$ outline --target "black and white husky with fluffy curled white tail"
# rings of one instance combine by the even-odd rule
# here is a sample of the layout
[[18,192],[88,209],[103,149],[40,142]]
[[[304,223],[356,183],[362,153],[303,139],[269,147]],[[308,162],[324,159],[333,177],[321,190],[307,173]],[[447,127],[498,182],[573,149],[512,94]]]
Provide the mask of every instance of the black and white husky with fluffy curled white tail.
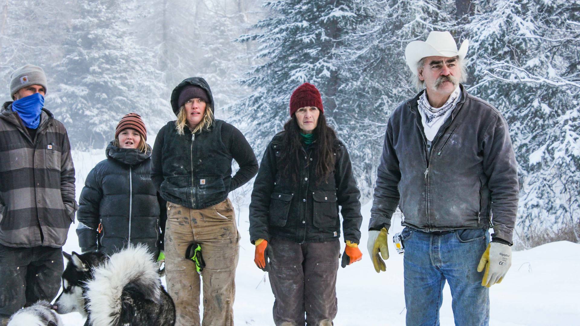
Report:
[[71,255],[55,301],[57,313],[78,311],[85,325],[173,326],[175,305],[144,246],[129,246],[108,257],[99,252]]

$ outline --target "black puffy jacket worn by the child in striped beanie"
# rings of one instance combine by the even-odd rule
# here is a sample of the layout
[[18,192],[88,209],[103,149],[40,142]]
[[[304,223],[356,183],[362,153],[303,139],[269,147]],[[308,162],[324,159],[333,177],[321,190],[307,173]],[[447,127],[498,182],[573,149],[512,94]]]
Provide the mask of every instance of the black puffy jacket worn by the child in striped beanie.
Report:
[[107,159],[89,172],[81,192],[79,245],[82,251],[111,254],[129,242],[142,243],[156,254],[166,211],[151,181],[151,147],[143,153],[111,142],[106,154]]

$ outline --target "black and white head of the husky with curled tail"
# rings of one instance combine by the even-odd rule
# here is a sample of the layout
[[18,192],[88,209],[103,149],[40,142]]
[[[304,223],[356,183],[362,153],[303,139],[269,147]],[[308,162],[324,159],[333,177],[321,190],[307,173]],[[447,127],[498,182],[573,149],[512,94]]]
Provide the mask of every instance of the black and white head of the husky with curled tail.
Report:
[[56,312],[66,314],[78,311],[86,317],[84,285],[92,278],[93,267],[102,263],[106,255],[97,251],[85,252],[81,255],[73,251],[69,255],[63,251],[63,256],[67,259],[67,267],[61,277],[63,292],[55,301]]

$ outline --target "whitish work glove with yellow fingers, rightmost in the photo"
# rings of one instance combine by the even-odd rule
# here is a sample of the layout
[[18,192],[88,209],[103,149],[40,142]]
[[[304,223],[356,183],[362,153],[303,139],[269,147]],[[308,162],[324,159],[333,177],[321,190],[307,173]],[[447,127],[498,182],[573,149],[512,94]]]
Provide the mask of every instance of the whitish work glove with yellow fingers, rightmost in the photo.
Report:
[[477,265],[478,272],[481,272],[485,267],[481,286],[491,287],[491,285],[500,283],[511,266],[512,247],[500,242],[490,242],[481,255],[479,265]]

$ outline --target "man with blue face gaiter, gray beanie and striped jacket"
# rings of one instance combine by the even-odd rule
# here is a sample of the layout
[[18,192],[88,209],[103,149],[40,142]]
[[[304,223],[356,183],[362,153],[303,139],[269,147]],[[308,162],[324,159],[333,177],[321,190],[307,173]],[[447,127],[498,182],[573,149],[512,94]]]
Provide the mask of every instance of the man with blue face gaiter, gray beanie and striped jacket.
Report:
[[27,64],[0,108],[0,325],[60,288],[62,247],[77,210],[67,131],[44,108],[46,76]]

